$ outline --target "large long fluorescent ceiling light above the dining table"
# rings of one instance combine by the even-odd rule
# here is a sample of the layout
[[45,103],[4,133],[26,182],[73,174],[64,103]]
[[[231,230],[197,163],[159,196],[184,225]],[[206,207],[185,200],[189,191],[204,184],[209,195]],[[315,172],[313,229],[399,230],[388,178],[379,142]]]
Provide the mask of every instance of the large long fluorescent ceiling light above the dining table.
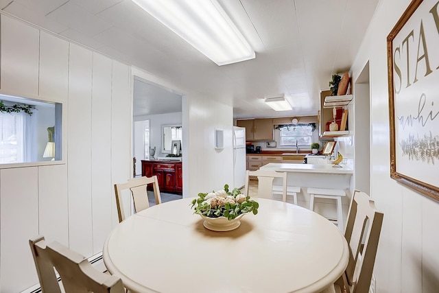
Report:
[[217,0],[132,1],[217,65],[255,57]]

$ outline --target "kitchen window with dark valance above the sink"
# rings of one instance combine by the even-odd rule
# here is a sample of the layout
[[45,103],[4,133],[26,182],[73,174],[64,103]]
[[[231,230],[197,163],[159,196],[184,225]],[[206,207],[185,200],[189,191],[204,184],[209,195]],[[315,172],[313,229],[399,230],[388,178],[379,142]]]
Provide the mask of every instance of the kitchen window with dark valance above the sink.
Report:
[[297,126],[279,126],[279,146],[311,148],[313,126],[311,124],[298,124]]

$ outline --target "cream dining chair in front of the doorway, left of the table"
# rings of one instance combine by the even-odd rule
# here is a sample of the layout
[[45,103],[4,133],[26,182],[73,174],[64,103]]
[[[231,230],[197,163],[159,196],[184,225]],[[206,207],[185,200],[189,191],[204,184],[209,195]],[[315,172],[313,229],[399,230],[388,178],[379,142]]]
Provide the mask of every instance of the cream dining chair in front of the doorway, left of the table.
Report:
[[119,222],[125,220],[125,212],[122,204],[122,191],[125,189],[130,189],[132,194],[132,199],[134,202],[134,211],[139,213],[150,207],[150,202],[147,196],[147,185],[152,184],[152,189],[154,190],[154,196],[156,198],[156,204],[161,204],[162,199],[160,196],[160,189],[158,188],[157,176],[151,177],[138,177],[128,180],[126,183],[115,184],[115,194],[116,194],[116,204],[117,204],[117,214],[119,215]]

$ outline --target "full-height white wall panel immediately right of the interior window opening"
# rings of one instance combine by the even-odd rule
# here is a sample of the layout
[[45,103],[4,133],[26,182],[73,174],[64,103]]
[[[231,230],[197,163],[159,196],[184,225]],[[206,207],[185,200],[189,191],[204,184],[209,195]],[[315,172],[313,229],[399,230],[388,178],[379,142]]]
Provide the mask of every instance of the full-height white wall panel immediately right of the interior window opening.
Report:
[[69,58],[69,235],[70,248],[93,255],[91,207],[91,84],[93,53],[70,45]]

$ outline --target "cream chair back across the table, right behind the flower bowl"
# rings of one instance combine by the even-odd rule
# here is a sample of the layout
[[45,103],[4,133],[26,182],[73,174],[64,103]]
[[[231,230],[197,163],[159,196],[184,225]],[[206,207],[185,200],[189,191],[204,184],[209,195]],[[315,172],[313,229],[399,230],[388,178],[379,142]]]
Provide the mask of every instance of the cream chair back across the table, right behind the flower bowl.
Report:
[[246,187],[245,195],[248,196],[248,188],[250,185],[250,176],[257,176],[258,178],[258,197],[259,198],[273,198],[273,180],[274,178],[281,178],[282,181],[282,200],[287,201],[287,172],[276,172],[271,170],[256,170],[246,172]]

